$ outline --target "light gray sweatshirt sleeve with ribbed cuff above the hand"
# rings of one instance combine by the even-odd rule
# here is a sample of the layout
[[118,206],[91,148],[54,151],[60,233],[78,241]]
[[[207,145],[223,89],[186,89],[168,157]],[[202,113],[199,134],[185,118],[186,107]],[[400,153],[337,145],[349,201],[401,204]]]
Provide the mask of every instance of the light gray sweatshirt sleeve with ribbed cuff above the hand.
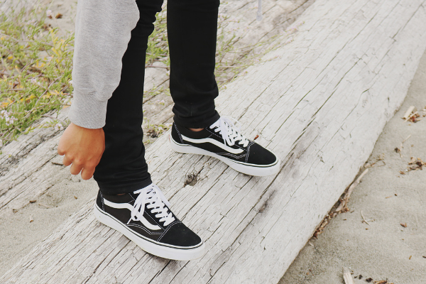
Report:
[[121,59],[139,19],[135,0],[78,0],[70,121],[105,125],[107,102],[121,77]]

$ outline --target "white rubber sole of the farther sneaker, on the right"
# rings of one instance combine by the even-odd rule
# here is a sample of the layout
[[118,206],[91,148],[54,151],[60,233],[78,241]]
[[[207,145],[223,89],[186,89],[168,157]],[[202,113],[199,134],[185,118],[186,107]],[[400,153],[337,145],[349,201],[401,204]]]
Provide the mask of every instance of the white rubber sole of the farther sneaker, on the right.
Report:
[[246,175],[256,175],[256,176],[266,176],[266,175],[275,175],[280,171],[280,159],[277,158],[277,161],[271,165],[253,165],[249,163],[235,162],[234,160],[229,160],[222,155],[217,155],[206,151],[202,148],[197,148],[188,144],[180,144],[176,142],[171,135],[169,135],[170,147],[173,151],[185,154],[199,154],[199,155],[209,155],[210,157],[217,158],[222,160],[222,162],[229,165],[237,172],[244,173]]

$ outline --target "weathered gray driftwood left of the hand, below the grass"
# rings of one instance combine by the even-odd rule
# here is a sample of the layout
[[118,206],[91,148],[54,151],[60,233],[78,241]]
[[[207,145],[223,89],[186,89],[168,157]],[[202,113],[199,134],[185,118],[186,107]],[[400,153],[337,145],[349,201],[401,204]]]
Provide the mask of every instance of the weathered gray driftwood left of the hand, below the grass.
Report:
[[[59,119],[65,119],[65,114],[66,111]],[[49,120],[44,119],[40,124]],[[61,163],[56,153],[61,132],[53,127],[36,128],[30,135],[23,135],[1,149],[1,216],[12,209],[21,209],[52,185],[70,177],[63,165],[53,164]]]

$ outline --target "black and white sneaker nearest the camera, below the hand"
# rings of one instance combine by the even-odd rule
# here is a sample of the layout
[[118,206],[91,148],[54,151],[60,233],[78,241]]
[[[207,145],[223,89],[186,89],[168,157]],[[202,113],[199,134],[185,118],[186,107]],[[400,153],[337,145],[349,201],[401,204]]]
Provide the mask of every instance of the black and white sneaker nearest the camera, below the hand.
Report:
[[94,216],[155,256],[178,261],[200,258],[204,242],[169,207],[154,184],[124,195],[102,195],[99,190]]

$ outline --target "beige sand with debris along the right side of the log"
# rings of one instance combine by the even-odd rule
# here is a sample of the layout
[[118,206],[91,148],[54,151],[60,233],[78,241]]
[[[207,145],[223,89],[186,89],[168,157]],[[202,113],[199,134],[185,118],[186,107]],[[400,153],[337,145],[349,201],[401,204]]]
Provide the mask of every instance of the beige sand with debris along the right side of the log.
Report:
[[[375,164],[352,193],[350,211],[334,217],[318,239],[309,241],[280,284],[344,284],[343,266],[353,276],[361,275],[355,283],[368,283],[368,278],[426,283],[426,168],[406,172],[411,156],[426,161],[426,117],[417,123],[403,121],[410,106],[420,114],[426,106],[426,53],[403,106],[368,158]],[[401,158],[395,148],[408,136]]]

